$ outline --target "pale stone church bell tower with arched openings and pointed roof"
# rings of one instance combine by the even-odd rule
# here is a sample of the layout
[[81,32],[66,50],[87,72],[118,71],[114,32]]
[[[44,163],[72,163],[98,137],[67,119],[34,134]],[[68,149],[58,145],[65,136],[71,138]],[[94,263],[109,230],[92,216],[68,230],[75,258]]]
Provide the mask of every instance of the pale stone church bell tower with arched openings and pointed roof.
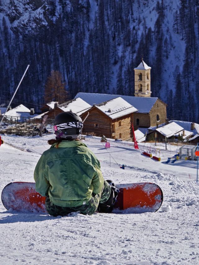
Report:
[[135,71],[135,97],[150,97],[150,70],[143,58],[141,63],[134,68]]

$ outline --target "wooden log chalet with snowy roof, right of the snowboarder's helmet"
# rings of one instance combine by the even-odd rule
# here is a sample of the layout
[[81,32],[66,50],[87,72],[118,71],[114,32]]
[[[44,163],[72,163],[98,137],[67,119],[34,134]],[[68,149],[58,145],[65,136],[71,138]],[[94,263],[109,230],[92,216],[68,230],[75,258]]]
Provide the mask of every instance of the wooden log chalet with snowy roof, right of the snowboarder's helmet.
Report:
[[137,109],[121,97],[94,104],[81,114],[82,133],[127,140],[132,137],[133,115]]

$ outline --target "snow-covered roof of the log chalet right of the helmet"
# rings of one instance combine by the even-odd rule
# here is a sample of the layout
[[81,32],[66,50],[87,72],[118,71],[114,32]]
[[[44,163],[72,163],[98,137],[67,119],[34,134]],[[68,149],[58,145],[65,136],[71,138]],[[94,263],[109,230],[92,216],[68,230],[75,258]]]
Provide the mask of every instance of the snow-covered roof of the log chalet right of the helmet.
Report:
[[137,111],[136,108],[121,97],[105,101],[101,104],[95,105],[95,107],[104,112],[104,114],[109,116],[111,119],[116,119]]

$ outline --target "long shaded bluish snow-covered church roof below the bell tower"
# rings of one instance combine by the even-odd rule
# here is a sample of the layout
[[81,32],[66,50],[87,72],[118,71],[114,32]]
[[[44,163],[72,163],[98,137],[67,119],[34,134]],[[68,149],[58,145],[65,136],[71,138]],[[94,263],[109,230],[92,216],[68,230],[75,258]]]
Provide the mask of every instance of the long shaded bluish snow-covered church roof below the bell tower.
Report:
[[123,95],[111,95],[111,94],[99,94],[99,93],[83,93],[79,92],[75,98],[80,97],[91,106],[94,104],[100,104],[102,102],[111,100],[116,97],[121,97],[133,107],[135,107],[138,113],[149,113],[153,105],[155,104],[157,97],[133,97]]

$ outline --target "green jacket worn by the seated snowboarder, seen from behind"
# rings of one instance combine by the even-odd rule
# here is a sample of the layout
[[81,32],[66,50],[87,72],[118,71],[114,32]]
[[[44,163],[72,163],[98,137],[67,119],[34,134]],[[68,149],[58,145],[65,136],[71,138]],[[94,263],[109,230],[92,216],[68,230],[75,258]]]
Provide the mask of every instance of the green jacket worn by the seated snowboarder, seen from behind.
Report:
[[86,204],[104,184],[98,159],[80,141],[62,141],[44,151],[34,179],[36,191],[63,207]]

